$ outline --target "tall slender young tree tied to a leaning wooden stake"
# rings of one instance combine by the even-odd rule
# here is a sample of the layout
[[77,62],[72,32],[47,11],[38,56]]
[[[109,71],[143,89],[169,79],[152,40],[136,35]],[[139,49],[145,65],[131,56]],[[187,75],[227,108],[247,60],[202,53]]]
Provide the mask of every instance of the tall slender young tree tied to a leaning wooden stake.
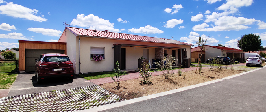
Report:
[[[208,36],[208,38],[209,38],[210,36]],[[199,57],[199,62],[198,62],[198,65],[197,65],[197,68],[198,68],[198,66],[199,66],[199,76],[200,76],[200,72],[201,72],[201,68],[202,68],[202,66],[201,66],[201,56],[202,56],[202,51],[205,51],[205,45],[206,45],[206,42],[207,42],[207,40],[208,40],[208,38],[204,41],[203,40],[203,38],[201,38],[201,36],[199,36],[199,41],[198,42],[196,42],[197,43],[197,45],[199,46],[199,48],[200,48],[200,57]],[[197,73],[197,68],[196,68],[196,72],[195,73]]]

